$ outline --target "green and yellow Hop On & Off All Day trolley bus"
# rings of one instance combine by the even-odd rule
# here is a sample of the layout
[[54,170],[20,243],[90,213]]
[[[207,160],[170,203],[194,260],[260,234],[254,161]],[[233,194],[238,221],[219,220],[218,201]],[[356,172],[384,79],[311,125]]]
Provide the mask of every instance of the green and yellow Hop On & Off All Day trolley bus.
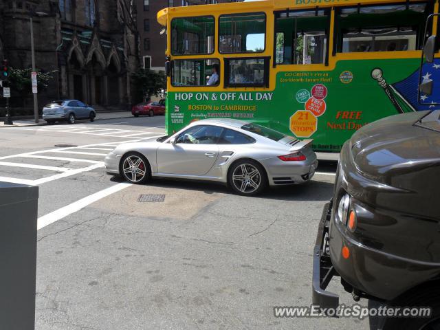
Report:
[[[167,33],[166,131],[236,118],[338,152],[365,124],[439,101],[417,93],[425,22],[438,9],[393,0],[166,8],[157,14]],[[427,33],[437,34],[431,22]],[[436,59],[423,79],[437,72]]]

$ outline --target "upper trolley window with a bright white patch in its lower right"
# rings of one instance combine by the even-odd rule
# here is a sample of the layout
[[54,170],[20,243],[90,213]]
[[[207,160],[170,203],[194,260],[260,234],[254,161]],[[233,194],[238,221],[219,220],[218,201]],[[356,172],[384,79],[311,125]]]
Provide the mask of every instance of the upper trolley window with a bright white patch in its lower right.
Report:
[[219,52],[259,53],[265,50],[266,15],[228,14],[219,18]]

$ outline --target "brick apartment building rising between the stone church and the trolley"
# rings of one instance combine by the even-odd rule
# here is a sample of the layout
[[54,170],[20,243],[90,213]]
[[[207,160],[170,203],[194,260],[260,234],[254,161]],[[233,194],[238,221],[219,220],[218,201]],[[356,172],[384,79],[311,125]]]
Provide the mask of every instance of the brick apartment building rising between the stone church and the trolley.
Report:
[[166,35],[160,34],[157,12],[167,7],[240,2],[243,0],[137,0],[137,31],[140,36],[140,54],[143,67],[164,70]]

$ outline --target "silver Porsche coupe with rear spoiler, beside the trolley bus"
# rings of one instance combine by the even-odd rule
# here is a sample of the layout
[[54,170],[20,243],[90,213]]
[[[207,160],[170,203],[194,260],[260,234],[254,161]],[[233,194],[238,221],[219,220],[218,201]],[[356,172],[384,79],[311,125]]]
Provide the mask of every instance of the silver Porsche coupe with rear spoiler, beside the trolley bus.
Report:
[[311,141],[242,120],[206,119],[170,136],[120,144],[105,167],[133,184],[151,177],[200,179],[250,196],[311,179],[318,166]]

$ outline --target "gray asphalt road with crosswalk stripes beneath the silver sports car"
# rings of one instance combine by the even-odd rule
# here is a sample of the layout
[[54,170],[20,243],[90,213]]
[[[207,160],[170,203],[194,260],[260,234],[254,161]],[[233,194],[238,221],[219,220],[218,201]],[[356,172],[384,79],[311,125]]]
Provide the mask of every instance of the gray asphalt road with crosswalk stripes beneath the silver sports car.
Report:
[[[115,145],[163,132],[162,116],[0,129],[0,180],[40,187],[37,330],[368,328],[353,318],[274,317],[274,306],[311,304],[334,163],[309,184],[253,198],[104,174]],[[140,202],[142,194],[164,201]],[[331,290],[353,305],[337,281]]]

